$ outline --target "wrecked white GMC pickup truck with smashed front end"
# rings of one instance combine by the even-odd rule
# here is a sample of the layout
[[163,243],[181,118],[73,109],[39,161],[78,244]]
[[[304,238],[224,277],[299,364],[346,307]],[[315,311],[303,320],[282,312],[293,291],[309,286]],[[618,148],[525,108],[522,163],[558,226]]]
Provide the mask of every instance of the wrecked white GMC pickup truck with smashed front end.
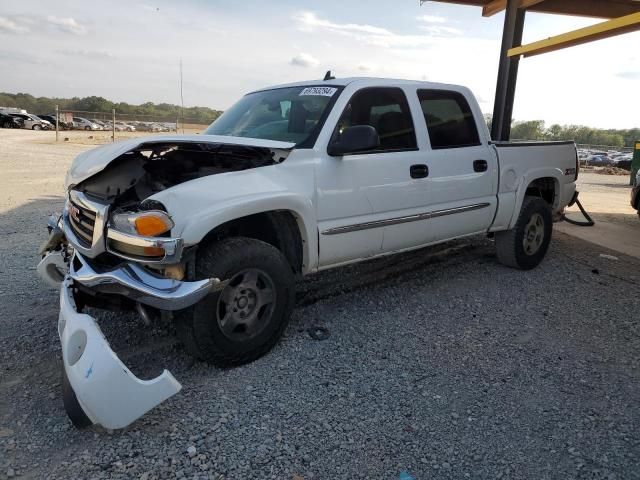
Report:
[[181,388],[136,378],[85,306],[171,316],[196,357],[249,362],[301,275],[477,234],[535,267],[577,175],[572,142],[492,142],[467,88],[386,79],[265,88],[202,135],[83,153],[38,268],[62,286],[67,412],[124,427]]

